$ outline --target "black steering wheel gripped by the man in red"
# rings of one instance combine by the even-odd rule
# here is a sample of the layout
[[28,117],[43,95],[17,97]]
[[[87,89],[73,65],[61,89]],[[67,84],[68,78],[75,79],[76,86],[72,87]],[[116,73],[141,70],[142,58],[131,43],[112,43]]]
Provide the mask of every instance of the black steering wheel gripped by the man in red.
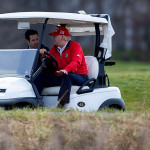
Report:
[[58,62],[56,58],[48,52],[44,52],[45,55],[49,56],[45,59],[46,69],[45,71],[54,73],[58,69]]

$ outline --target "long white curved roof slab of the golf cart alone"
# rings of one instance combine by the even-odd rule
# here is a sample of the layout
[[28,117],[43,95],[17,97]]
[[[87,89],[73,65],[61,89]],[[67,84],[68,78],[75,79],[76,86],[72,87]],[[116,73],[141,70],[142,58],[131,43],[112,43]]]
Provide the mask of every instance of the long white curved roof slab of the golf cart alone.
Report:
[[68,26],[93,26],[93,23],[107,24],[104,18],[92,17],[89,14],[62,13],[62,12],[16,12],[0,14],[0,19],[12,19],[18,22],[31,24],[44,23],[49,18],[48,24],[67,24]]

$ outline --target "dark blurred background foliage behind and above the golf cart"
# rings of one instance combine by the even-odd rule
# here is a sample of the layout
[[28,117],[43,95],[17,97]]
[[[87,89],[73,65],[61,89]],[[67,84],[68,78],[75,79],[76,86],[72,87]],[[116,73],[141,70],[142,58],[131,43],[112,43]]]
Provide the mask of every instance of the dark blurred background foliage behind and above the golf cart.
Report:
[[[120,54],[121,59],[150,61],[150,16],[148,0],[1,0],[0,13],[22,11],[74,12],[85,10],[89,14],[109,14],[116,32],[113,37],[113,50]],[[25,48],[24,30],[18,31],[17,25],[6,22],[1,26],[0,48]],[[7,24],[8,25],[8,24]],[[33,28],[35,28],[33,26]],[[40,26],[37,28],[40,32]],[[49,33],[50,29],[47,30]],[[20,38],[22,37],[22,38]],[[7,40],[6,40],[7,39]],[[94,37],[73,38],[81,43],[84,49],[93,49]],[[44,43],[52,46],[52,40],[47,37]],[[118,55],[117,54],[117,55]]]

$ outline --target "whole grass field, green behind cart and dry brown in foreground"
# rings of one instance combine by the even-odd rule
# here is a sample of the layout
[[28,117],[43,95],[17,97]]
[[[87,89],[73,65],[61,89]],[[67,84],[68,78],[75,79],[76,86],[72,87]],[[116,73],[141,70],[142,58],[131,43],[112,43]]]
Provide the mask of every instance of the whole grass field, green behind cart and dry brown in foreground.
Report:
[[150,64],[119,61],[106,73],[120,88],[126,112],[0,109],[0,149],[148,150]]

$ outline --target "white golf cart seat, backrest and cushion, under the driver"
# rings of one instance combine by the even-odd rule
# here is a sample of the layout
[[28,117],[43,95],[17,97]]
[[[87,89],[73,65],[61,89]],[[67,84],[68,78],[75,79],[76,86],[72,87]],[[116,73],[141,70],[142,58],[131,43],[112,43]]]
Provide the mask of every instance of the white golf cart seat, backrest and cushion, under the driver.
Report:
[[[85,61],[86,61],[86,65],[87,65],[89,79],[96,79],[98,76],[98,72],[99,72],[99,64],[98,64],[96,57],[85,56]],[[79,88],[80,88],[80,86],[73,85],[71,87],[71,94],[76,93]],[[89,89],[89,87],[84,86],[83,89]],[[60,90],[60,86],[46,87],[43,89],[42,95],[43,96],[58,95],[59,90]]]

